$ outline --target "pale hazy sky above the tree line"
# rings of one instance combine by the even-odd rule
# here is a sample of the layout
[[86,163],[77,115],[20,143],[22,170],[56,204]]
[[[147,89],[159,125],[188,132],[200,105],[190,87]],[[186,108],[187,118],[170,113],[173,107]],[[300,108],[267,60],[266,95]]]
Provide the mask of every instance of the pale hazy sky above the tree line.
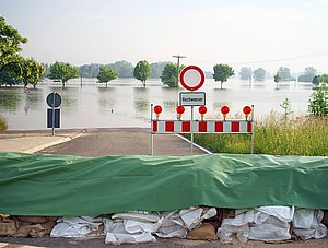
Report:
[[0,0],[39,62],[172,61],[328,73],[328,0]]

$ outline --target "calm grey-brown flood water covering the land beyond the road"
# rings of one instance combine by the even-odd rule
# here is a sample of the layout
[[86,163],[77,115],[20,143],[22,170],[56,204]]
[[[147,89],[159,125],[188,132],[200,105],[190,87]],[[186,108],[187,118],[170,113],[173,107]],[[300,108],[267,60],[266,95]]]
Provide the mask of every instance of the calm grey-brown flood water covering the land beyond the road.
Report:
[[[241,81],[231,79],[220,90],[220,82],[206,80],[199,90],[206,92],[206,118],[221,118],[220,108],[227,105],[231,118],[241,114],[245,105],[254,105],[255,118],[260,118],[271,110],[283,113],[280,106],[289,98],[294,115],[304,115],[308,110],[308,99],[313,85],[311,83],[281,82],[279,88],[273,80],[265,82]],[[184,88],[168,88],[160,80],[147,81],[143,87],[136,79],[119,79],[105,84],[95,79],[71,80],[66,88],[61,83],[45,80],[36,88],[0,87],[0,113],[9,123],[9,130],[46,129],[46,111],[49,106],[46,97],[58,92],[62,102],[61,128],[116,128],[150,127],[151,104],[161,105],[161,119],[176,119],[175,108],[179,92]],[[186,107],[183,119],[190,118],[190,107]],[[199,119],[198,107],[194,116]]]

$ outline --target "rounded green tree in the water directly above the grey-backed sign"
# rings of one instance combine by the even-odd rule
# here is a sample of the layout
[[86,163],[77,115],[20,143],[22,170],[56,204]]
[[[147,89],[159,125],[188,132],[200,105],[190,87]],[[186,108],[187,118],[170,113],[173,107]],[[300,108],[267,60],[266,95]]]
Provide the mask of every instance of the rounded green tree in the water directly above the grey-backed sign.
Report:
[[50,74],[48,75],[50,80],[60,81],[62,87],[70,79],[79,78],[79,69],[69,63],[55,62],[50,67]]

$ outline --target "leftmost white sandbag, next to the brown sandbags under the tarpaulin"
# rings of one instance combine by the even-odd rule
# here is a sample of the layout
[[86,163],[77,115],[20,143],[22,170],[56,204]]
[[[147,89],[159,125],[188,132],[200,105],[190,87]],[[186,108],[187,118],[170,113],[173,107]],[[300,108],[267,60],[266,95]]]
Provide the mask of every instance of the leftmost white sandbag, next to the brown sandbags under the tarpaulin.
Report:
[[98,231],[102,224],[102,219],[90,216],[60,217],[57,220],[50,237],[86,237],[90,233]]

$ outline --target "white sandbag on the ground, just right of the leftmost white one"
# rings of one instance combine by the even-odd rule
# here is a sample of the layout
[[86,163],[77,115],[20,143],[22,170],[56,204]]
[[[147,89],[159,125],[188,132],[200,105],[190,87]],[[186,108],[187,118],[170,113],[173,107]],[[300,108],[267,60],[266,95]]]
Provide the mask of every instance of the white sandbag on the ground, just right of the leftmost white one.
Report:
[[114,223],[110,219],[104,219],[105,224],[105,244],[138,244],[154,243],[156,238],[148,232],[130,234],[125,229],[125,223]]

